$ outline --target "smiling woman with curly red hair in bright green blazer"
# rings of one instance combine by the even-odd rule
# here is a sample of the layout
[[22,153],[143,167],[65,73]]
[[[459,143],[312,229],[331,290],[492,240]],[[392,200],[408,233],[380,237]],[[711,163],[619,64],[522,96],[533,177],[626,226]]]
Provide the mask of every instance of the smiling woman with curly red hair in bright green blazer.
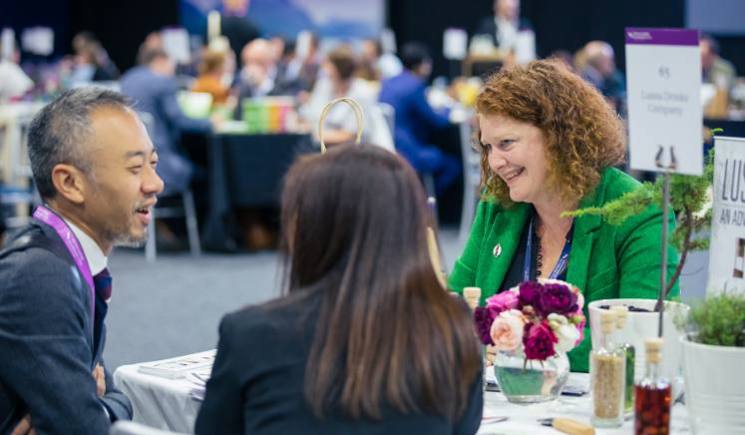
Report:
[[[562,64],[543,60],[491,76],[476,110],[484,198],[450,288],[481,287],[483,303],[522,281],[555,278],[582,289],[587,302],[656,297],[658,208],[619,226],[598,216],[562,216],[639,187],[614,167],[624,160],[626,137],[603,96]],[[669,250],[672,274],[677,253]],[[584,336],[569,353],[573,371],[589,367],[589,327]]]

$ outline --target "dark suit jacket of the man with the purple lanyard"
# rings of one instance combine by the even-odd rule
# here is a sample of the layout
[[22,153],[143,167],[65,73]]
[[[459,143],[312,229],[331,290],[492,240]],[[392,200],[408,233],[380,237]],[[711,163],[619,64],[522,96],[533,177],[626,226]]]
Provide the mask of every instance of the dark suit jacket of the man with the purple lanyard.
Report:
[[[41,434],[107,434],[132,418],[129,399],[106,371],[98,397],[91,374],[103,366],[107,304],[90,290],[50,226],[32,222],[0,251],[0,434],[31,414]],[[108,413],[108,415],[107,415]]]

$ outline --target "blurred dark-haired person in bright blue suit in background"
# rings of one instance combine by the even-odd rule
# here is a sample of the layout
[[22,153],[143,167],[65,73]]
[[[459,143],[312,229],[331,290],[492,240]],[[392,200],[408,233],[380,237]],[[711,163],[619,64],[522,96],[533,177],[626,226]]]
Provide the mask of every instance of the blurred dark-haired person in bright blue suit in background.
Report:
[[434,130],[450,124],[448,112],[436,112],[425,95],[432,58],[427,47],[412,42],[402,48],[401,59],[404,71],[383,82],[379,99],[395,110],[396,150],[418,172],[432,174],[437,190],[443,191],[457,180],[462,169],[456,157],[429,142]]

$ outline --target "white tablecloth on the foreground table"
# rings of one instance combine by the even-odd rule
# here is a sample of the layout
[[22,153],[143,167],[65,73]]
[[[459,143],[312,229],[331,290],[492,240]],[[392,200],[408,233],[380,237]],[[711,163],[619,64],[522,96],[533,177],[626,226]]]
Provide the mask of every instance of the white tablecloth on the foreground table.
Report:
[[[200,402],[190,395],[194,388],[186,378],[166,379],[138,371],[138,365],[121,366],[114,373],[116,385],[132,400],[134,420],[159,429],[191,433],[199,412]],[[586,384],[586,374],[573,373],[571,383]],[[549,417],[567,417],[585,423],[590,421],[591,401],[584,397],[562,396],[559,400],[535,405],[513,405],[501,393],[484,393],[484,417],[508,416],[500,423],[484,423],[479,434],[553,434],[558,432],[541,426],[536,420]],[[671,433],[688,431],[688,414],[685,406],[678,404],[672,410]],[[633,433],[633,419],[620,429],[598,429],[598,435]]]

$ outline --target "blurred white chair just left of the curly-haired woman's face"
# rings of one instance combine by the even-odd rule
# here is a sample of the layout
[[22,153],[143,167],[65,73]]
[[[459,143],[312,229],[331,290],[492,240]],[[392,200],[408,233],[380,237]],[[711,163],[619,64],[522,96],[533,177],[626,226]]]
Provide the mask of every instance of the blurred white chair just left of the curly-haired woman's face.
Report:
[[466,118],[459,124],[460,149],[463,155],[463,210],[460,215],[458,244],[463,246],[471,232],[471,224],[479,200],[481,185],[481,153],[473,148],[473,119]]

